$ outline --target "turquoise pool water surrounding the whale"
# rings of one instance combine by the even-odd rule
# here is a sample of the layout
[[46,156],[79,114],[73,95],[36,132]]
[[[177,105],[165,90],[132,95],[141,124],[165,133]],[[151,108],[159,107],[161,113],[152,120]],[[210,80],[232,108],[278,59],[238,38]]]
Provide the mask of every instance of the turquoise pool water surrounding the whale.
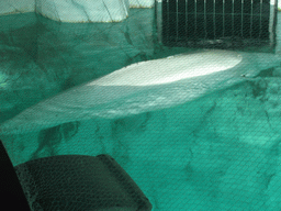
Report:
[[[130,64],[193,51],[158,44],[153,18],[148,9],[122,23],[1,16],[0,123]],[[154,210],[280,210],[280,82],[274,69],[168,109],[0,137],[14,166],[110,154]]]

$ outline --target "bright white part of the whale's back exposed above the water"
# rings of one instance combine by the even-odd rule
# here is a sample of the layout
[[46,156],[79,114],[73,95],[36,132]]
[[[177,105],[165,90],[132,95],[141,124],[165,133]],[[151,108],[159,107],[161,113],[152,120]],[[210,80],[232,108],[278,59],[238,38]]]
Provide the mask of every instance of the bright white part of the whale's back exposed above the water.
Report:
[[124,67],[87,86],[156,86],[224,71],[238,65],[243,57],[227,51],[177,55],[166,59]]

